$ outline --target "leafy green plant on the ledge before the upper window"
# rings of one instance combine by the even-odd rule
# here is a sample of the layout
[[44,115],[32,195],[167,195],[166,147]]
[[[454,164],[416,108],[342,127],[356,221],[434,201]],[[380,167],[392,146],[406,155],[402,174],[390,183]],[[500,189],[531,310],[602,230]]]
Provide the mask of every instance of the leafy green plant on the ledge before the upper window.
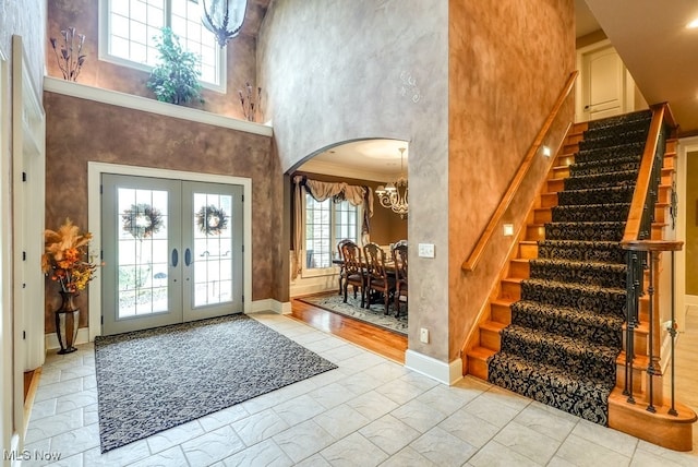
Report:
[[186,104],[194,99],[203,103],[198,57],[181,46],[172,29],[163,27],[160,31],[160,36],[154,37],[159,63],[153,69],[147,87],[164,103]]

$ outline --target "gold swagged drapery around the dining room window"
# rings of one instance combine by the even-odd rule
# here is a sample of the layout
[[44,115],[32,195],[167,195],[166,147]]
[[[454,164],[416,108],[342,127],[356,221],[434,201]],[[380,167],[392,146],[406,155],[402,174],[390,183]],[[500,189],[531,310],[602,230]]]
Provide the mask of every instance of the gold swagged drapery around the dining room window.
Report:
[[326,182],[311,180],[303,176],[293,177],[293,265],[291,279],[298,277],[303,268],[301,261],[303,242],[303,189],[308,191],[316,201],[323,202],[328,199],[335,201],[348,201],[354,206],[363,206],[363,219],[361,221],[362,239],[368,238],[370,230],[370,219],[373,217],[373,191],[369,187],[348,184],[345,182]]

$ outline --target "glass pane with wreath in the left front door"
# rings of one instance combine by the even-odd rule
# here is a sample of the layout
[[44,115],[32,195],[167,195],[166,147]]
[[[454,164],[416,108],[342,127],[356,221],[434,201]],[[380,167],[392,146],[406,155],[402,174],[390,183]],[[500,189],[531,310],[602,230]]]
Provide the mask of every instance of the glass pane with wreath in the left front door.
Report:
[[168,193],[119,188],[117,320],[168,311]]

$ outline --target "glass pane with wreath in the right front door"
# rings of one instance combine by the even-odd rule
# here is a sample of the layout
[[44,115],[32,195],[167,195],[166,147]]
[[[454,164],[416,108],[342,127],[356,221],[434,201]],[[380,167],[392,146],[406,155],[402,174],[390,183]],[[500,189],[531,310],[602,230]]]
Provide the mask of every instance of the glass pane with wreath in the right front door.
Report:
[[232,301],[232,196],[193,193],[194,308]]

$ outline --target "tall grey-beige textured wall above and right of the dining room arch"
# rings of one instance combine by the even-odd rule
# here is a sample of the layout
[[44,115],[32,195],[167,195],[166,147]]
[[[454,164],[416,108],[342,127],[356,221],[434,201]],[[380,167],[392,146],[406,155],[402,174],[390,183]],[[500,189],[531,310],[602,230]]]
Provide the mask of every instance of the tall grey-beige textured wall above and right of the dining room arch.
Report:
[[[410,348],[448,355],[448,4],[443,0],[277,0],[262,25],[258,82],[269,89],[281,169],[339,141],[410,143]],[[419,177],[418,177],[419,176]],[[419,201],[419,202],[417,202]],[[432,331],[420,346],[419,327]]]

